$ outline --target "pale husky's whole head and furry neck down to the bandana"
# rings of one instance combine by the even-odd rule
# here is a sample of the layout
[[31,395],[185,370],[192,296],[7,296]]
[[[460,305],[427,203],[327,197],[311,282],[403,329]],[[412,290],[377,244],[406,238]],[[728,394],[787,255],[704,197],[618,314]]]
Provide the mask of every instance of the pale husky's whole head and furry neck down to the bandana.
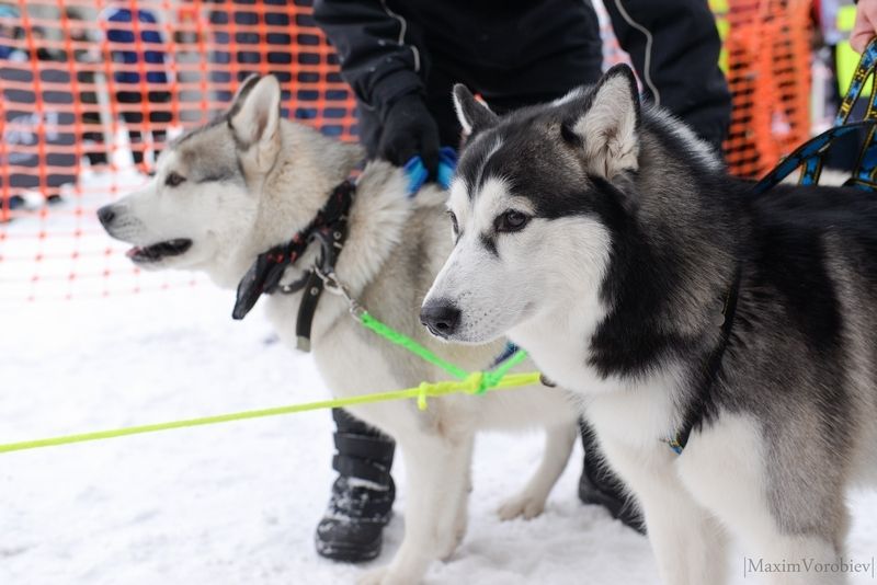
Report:
[[255,254],[307,225],[352,165],[350,148],[281,119],[277,80],[252,76],[221,116],[168,145],[145,187],[98,216],[138,266],[234,286]]

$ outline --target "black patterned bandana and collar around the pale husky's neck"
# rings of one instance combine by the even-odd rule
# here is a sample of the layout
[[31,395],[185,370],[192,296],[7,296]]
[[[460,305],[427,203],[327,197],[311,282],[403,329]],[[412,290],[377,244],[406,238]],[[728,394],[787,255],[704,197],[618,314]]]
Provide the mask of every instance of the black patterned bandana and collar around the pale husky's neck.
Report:
[[[262,295],[273,295],[277,290],[289,295],[304,289],[295,333],[298,348],[303,352],[310,351],[310,328],[324,288],[321,274],[331,275],[334,272],[338,256],[348,239],[348,215],[355,194],[355,183],[351,180],[344,181],[332,190],[329,200],[305,229],[293,236],[288,242],[275,245],[257,256],[238,284],[232,319],[243,319]],[[286,268],[295,264],[315,241],[320,243],[321,254],[314,267],[298,280],[281,286]]]

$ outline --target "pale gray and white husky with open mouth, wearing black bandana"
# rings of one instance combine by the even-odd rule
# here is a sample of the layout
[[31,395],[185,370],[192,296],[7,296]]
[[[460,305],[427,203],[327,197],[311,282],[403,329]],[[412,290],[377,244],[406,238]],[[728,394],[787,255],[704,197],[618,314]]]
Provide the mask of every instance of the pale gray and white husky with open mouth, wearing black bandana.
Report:
[[[100,210],[107,232],[135,245],[128,255],[137,265],[203,271],[220,287],[235,288],[260,253],[287,242],[314,219],[363,152],[281,119],[280,100],[276,79],[250,78],[223,117],[161,153],[147,186]],[[452,363],[485,368],[504,342],[454,346],[436,342],[420,325],[423,295],[451,250],[446,193],[428,186],[409,198],[407,186],[405,173],[387,163],[364,169],[335,266],[338,279],[376,318]],[[317,255],[309,250],[282,283],[299,279]],[[277,333],[293,347],[300,299],[301,292],[277,294],[266,302]],[[364,330],[348,309],[341,297],[323,295],[311,331],[317,366],[334,395],[447,378]],[[521,369],[526,367],[533,369],[532,363]],[[408,479],[405,539],[389,566],[365,575],[366,583],[415,583],[433,559],[454,551],[466,529],[477,429],[547,429],[540,466],[500,507],[502,518],[542,513],[577,436],[574,402],[544,387],[433,399],[425,412],[413,401],[350,410],[398,441]],[[534,411],[539,412],[535,417]]]

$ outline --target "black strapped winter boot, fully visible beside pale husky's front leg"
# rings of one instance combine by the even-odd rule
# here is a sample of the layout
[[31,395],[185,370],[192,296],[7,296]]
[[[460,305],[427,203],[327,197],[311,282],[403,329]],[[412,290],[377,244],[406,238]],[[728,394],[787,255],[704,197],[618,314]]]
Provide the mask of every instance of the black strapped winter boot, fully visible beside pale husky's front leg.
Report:
[[380,554],[396,486],[390,477],[396,444],[341,409],[332,410],[337,431],[332,468],[339,475],[315,542],[321,557],[360,563]]

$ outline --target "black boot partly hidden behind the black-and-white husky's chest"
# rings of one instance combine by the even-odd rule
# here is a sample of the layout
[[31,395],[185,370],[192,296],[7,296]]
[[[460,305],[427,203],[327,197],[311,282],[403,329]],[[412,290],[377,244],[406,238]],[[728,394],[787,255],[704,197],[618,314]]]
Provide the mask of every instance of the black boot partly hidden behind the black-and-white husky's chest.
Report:
[[645,535],[646,527],[633,496],[625,494],[624,484],[612,470],[602,462],[603,456],[596,446],[593,431],[580,421],[584,467],[579,480],[579,500],[595,504],[610,511],[612,517],[622,520],[637,532]]

